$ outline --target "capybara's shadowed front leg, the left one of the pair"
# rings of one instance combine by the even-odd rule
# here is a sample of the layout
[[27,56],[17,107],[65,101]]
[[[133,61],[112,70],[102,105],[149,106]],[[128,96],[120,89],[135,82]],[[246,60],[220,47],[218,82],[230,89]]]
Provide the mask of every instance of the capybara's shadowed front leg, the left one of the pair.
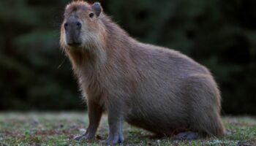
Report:
[[76,140],[92,139],[94,137],[99,126],[100,118],[102,117],[102,111],[102,107],[99,104],[88,100],[89,126],[85,134],[75,137]]

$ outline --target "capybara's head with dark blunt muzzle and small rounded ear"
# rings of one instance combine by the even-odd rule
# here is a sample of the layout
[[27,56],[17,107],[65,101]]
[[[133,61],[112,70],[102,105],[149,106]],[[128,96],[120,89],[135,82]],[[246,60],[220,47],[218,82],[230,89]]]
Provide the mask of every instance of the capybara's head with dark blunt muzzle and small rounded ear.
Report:
[[73,1],[64,12],[61,25],[61,46],[64,48],[88,48],[102,40],[102,7],[96,2]]

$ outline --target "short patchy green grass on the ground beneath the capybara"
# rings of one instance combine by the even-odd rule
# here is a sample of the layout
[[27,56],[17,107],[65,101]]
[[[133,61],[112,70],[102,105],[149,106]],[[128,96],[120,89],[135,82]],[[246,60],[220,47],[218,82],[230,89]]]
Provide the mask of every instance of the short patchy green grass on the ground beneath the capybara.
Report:
[[[150,133],[124,124],[125,142],[122,145],[255,145],[256,118],[222,118],[227,134],[219,139],[176,141],[171,138],[151,139]],[[107,118],[103,117],[92,140],[75,141],[83,134],[89,121],[81,112],[0,112],[0,146],[7,145],[99,145],[108,137]]]

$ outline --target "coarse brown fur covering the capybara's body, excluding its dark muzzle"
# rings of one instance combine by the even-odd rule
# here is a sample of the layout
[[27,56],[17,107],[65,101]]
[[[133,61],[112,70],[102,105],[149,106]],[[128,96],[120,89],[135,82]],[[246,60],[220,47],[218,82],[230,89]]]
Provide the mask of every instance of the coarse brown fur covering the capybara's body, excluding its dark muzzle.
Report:
[[89,107],[91,134],[83,136],[94,136],[103,110],[110,140],[111,132],[121,134],[123,119],[155,134],[178,129],[211,137],[224,134],[221,97],[206,67],[175,50],[138,42],[103,12],[94,19],[89,12],[94,12],[91,4],[73,1],[64,14],[64,22],[72,15],[83,22],[80,47],[67,45],[61,27],[61,46]]

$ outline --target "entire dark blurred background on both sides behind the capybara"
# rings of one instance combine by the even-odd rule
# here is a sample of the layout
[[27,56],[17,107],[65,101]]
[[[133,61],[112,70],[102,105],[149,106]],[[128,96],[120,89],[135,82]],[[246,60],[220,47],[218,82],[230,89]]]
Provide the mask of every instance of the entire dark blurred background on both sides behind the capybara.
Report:
[[[67,0],[0,1],[0,110],[83,110],[59,48]],[[136,39],[170,47],[214,74],[223,114],[256,115],[255,0],[102,0]]]

